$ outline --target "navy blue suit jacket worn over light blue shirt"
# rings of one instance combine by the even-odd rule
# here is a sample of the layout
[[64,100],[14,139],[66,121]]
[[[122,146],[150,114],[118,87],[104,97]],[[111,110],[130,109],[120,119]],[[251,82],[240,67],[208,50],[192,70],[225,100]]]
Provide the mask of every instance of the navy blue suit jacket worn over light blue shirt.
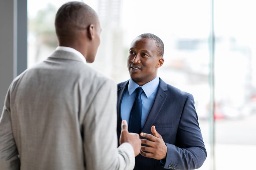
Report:
[[[155,125],[167,146],[165,165],[159,160],[138,155],[135,170],[197,169],[206,159],[206,149],[199,128],[193,96],[166,84],[161,78],[154,104],[141,132],[152,134]],[[128,81],[117,87],[117,136],[121,132],[121,103]],[[132,103],[131,103],[132,104]]]

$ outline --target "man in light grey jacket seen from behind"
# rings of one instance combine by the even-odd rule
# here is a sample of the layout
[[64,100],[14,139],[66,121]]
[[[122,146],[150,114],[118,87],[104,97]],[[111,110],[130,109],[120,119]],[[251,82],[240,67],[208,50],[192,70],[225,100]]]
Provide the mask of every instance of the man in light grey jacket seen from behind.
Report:
[[129,170],[138,134],[123,121],[116,135],[116,85],[86,62],[100,43],[95,11],[82,2],[60,7],[59,47],[16,77],[0,118],[0,170]]

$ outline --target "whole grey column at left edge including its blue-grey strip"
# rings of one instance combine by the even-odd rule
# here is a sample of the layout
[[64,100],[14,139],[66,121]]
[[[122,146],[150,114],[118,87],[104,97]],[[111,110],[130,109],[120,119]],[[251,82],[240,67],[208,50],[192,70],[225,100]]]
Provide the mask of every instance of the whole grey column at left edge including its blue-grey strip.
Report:
[[0,115],[7,89],[27,68],[27,0],[0,1]]

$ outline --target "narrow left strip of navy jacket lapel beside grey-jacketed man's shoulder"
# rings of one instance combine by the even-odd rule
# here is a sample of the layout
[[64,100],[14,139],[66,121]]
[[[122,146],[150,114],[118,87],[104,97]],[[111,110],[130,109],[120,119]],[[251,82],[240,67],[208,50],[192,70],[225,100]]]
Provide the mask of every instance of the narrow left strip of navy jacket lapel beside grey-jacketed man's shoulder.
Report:
[[117,131],[119,134],[121,133],[121,104],[124,97],[125,90],[127,89],[129,80],[121,83],[119,86],[117,86]]

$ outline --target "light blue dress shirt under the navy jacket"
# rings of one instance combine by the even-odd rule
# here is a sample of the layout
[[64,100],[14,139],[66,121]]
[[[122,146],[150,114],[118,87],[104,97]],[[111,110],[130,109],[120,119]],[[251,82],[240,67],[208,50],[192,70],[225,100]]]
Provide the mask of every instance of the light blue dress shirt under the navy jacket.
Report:
[[[142,87],[144,93],[142,93],[142,119],[141,119],[141,128],[144,126],[148,113],[155,101],[155,96],[157,95],[157,88],[159,85],[159,77],[157,76],[147,84],[144,84]],[[121,117],[122,120],[126,120],[129,124],[130,112],[132,110],[132,105],[136,97],[136,88],[139,85],[130,78],[128,88],[124,93],[124,97],[121,103]]]

